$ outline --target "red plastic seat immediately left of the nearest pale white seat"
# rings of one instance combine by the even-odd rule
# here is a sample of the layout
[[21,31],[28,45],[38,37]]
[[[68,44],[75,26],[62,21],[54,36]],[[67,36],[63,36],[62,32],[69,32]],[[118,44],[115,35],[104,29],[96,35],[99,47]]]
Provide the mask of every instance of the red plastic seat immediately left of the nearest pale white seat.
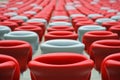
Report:
[[1,40],[0,54],[14,57],[19,63],[21,72],[23,72],[27,69],[27,64],[32,58],[32,48],[31,45],[25,41]]

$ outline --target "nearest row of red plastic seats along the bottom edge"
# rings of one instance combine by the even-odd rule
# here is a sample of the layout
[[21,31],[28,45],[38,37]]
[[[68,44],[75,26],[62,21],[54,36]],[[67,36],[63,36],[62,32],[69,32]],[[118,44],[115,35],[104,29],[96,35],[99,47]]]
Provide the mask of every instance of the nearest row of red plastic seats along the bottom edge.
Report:
[[[119,80],[119,57],[120,53],[115,53],[103,60],[102,80]],[[20,66],[16,59],[0,54],[0,61],[0,79],[19,80]],[[84,55],[70,52],[44,54],[28,63],[32,80],[89,80],[93,66],[94,62]]]

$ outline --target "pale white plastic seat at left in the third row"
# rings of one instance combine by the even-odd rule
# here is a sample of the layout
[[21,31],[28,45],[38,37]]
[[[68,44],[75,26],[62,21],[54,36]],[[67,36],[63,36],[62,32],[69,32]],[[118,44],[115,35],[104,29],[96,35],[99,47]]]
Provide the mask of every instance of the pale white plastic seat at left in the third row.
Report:
[[39,37],[32,31],[13,31],[4,35],[5,40],[23,40],[31,44],[33,53],[38,50]]

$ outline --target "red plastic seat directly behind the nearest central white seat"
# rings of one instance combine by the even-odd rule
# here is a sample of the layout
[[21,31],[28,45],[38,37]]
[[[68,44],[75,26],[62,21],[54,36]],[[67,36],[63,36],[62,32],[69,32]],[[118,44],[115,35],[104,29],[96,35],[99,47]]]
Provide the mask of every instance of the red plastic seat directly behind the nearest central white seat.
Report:
[[45,34],[45,41],[52,39],[73,39],[77,40],[78,35],[70,31],[51,31]]

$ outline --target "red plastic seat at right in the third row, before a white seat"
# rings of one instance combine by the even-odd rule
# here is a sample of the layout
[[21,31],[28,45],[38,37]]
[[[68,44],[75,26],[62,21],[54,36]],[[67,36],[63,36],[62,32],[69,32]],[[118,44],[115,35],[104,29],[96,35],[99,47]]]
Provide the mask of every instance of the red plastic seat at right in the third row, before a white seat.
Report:
[[85,50],[87,51],[87,53],[89,54],[89,47],[93,42],[103,39],[118,39],[118,35],[110,31],[86,32],[83,35],[82,42],[85,44]]

